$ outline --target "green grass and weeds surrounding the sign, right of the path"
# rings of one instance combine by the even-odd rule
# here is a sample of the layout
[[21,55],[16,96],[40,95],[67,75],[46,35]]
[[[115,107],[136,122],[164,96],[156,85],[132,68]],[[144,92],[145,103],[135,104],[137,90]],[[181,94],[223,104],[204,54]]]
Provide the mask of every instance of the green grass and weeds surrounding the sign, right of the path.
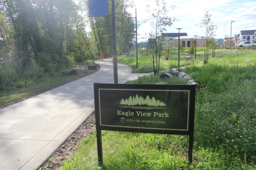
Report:
[[[119,58],[125,57],[130,58]],[[150,59],[146,57],[139,59],[147,62]],[[199,55],[197,60],[203,58]],[[133,66],[134,59],[131,61]],[[97,162],[94,133],[81,140],[75,155],[60,169],[255,170],[256,51],[216,50],[216,57],[209,57],[209,64],[191,63],[184,71],[202,85],[196,91],[191,165],[187,160],[188,136],[102,131],[102,167]],[[144,76],[129,83],[186,84],[185,80],[159,76],[160,73]]]

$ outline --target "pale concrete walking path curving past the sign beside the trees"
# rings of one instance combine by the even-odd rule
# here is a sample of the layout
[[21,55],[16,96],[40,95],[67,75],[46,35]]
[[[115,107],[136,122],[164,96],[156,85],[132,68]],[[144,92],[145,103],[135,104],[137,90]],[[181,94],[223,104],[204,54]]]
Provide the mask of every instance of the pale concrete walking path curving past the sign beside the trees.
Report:
[[[113,83],[112,58],[79,80],[0,110],[0,170],[34,170],[94,111],[93,83]],[[143,74],[118,63],[118,82]],[[130,77],[129,77],[130,76]]]

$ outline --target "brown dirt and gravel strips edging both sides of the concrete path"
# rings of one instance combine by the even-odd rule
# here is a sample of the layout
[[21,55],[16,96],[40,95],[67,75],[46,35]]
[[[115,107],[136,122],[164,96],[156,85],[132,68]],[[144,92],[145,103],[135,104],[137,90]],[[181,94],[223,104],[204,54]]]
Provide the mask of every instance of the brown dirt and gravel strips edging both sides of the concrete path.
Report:
[[[97,64],[95,64],[97,65]],[[33,96],[36,96],[38,94],[44,93],[46,91],[49,91],[51,89],[54,89],[56,87],[62,86],[64,84],[70,83],[72,81],[75,81],[77,79],[80,79],[82,77],[88,76],[92,73],[95,73],[96,71],[98,71],[100,69],[100,66],[97,65],[97,70],[88,70],[86,69],[84,66],[82,65],[77,65],[77,75],[70,75],[70,76],[74,76],[74,79],[68,82],[65,82],[63,84],[59,84],[50,88],[47,88],[43,91],[37,92],[36,94],[30,95],[30,96],[26,96],[22,99],[13,101],[13,102],[9,102],[7,104],[1,105],[0,109],[3,109],[5,107],[11,106],[15,103],[21,102],[23,100],[26,100],[28,98],[31,98]],[[72,156],[74,154],[74,152],[76,151],[78,145],[79,145],[79,140],[83,139],[86,136],[91,135],[92,133],[94,133],[95,131],[95,114],[94,112],[84,121],[83,124],[81,124],[64,142],[63,144],[60,146],[60,148],[58,148],[51,157],[48,158],[48,161],[45,162],[44,164],[42,164],[38,170],[56,170],[58,169],[62,163],[67,160],[70,156]]]

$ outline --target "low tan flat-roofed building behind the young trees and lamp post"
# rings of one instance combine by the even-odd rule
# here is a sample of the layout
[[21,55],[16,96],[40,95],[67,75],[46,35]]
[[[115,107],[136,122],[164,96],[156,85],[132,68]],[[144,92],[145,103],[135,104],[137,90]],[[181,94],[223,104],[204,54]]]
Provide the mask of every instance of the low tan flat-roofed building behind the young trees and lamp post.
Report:
[[[172,42],[173,47],[178,47],[178,40],[179,38],[174,38]],[[196,46],[202,47],[206,45],[206,37],[190,37],[190,36],[182,36],[180,37],[180,43],[182,43],[183,47],[190,47],[191,41],[196,40]]]

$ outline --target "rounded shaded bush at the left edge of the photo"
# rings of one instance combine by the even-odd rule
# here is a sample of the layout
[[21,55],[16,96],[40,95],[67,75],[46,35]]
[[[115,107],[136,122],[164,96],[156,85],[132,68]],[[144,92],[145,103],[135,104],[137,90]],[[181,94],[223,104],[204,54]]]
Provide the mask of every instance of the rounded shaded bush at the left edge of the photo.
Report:
[[17,77],[14,69],[5,66],[0,67],[0,90],[13,87]]

